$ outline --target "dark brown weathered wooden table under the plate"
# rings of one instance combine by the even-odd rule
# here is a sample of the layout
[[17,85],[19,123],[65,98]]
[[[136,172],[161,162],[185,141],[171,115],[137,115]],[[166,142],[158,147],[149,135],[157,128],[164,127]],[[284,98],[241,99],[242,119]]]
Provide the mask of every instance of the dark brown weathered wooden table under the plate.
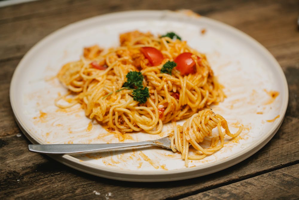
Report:
[[[104,13],[182,8],[244,31],[283,68],[289,106],[283,124],[264,148],[211,175],[155,184],[95,177],[28,151],[30,142],[13,118],[9,86],[17,64],[36,42],[69,23]],[[62,0],[0,8],[0,199],[299,199],[298,15],[298,0]]]

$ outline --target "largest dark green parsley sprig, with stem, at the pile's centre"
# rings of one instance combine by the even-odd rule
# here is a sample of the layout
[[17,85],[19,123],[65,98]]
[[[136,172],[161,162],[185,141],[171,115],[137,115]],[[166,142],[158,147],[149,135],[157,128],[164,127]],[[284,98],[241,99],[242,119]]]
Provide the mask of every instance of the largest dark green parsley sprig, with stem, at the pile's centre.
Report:
[[[147,98],[149,98],[149,88],[143,88],[143,75],[141,72],[131,71],[126,75],[127,81],[123,84],[123,87],[115,92],[119,92],[124,89],[133,90],[132,95],[135,101],[140,103],[147,102]],[[105,97],[108,97],[112,92],[107,94]],[[103,99],[105,98],[103,97]]]

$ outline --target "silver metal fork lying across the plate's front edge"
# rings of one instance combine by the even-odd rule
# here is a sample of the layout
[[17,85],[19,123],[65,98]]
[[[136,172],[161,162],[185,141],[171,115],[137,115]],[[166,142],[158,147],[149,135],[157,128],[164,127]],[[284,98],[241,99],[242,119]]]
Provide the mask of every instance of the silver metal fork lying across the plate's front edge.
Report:
[[166,136],[157,140],[144,142],[115,143],[115,144],[54,144],[54,145],[28,145],[29,151],[40,154],[83,154],[96,153],[115,149],[141,147],[141,146],[158,146],[167,149],[170,147],[170,138]]

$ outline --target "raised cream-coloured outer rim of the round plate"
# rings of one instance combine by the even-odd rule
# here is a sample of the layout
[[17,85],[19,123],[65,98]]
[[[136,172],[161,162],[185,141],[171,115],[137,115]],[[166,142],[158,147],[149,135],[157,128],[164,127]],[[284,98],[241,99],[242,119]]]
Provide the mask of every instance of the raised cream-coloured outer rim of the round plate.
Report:
[[[182,12],[176,12],[176,11],[171,11],[171,10],[129,10],[129,11],[121,11],[121,12],[114,12],[114,13],[107,13],[104,15],[98,15],[94,16],[91,18],[83,19],[74,23],[71,23],[69,25],[63,26],[62,28],[59,28],[58,30],[52,32],[51,34],[48,34],[46,37],[44,37],[42,40],[39,40],[33,47],[30,48],[30,50],[23,56],[19,64],[17,65],[11,82],[10,82],[10,103],[11,107],[13,110],[14,117],[16,119],[16,122],[24,135],[30,140],[30,142],[37,144],[39,143],[39,140],[34,137],[34,135],[30,135],[30,129],[22,123],[22,118],[18,115],[18,112],[16,110],[16,103],[14,100],[14,94],[13,90],[16,88],[17,85],[17,76],[20,73],[20,70],[22,69],[22,66],[24,66],[23,63],[25,63],[28,58],[32,54],[34,54],[35,51],[37,51],[40,47],[43,46],[44,43],[47,43],[49,40],[59,36],[62,34],[64,31],[69,31],[72,28],[76,28],[80,25],[86,25],[88,23],[92,23],[97,20],[104,20],[106,18],[109,18],[109,20],[112,20],[111,18],[119,18],[120,16],[146,16],[145,18],[148,18],[149,16],[154,16],[154,17],[160,17],[163,18],[165,16],[170,17],[171,19],[177,19],[177,18],[182,18],[182,19],[193,19],[196,20],[198,16],[190,16],[186,15],[185,13]],[[232,156],[229,156],[228,158],[221,159],[218,161],[215,161],[213,163],[208,163],[202,166],[196,166],[192,168],[182,168],[182,169],[173,169],[173,170],[161,170],[161,171],[137,171],[137,170],[127,170],[123,171],[121,169],[114,169],[114,168],[109,168],[105,166],[98,166],[92,163],[86,163],[86,162],[81,162],[79,159],[76,157],[72,157],[70,155],[63,155],[63,156],[49,156],[53,158],[54,160],[57,160],[58,162],[67,165],[71,168],[77,169],[79,171],[89,173],[92,175],[104,177],[104,178],[109,178],[109,179],[115,179],[115,180],[121,180],[121,181],[137,181],[137,182],[160,182],[160,181],[176,181],[176,180],[183,180],[183,179],[189,179],[189,178],[195,178],[203,175],[208,175],[214,172],[221,171],[223,169],[226,169],[228,167],[231,167],[257,151],[259,151],[263,146],[265,146],[271,138],[275,135],[275,133],[278,131],[280,125],[283,122],[287,105],[288,105],[288,100],[289,100],[289,90],[288,90],[288,85],[286,81],[286,76],[283,73],[283,70],[280,66],[280,64],[277,62],[277,60],[274,58],[274,56],[257,40],[254,38],[250,37],[249,35],[245,34],[244,32],[240,31],[237,28],[232,27],[231,25],[225,24],[223,22],[219,22],[214,19],[210,19],[208,17],[200,16],[199,18],[212,23],[216,25],[217,27],[224,28],[230,32],[234,32],[237,34],[239,37],[243,38],[244,40],[247,40],[250,42],[254,47],[258,48],[260,52],[263,52],[263,55],[267,58],[268,61],[271,61],[271,64],[273,64],[272,67],[274,67],[277,72],[279,73],[279,76],[282,78],[282,86],[283,86],[283,91],[286,92],[286,95],[282,99],[281,103],[281,118],[279,120],[276,120],[269,131],[263,135],[262,138],[260,138],[259,141],[253,146],[246,147],[239,151],[236,154],[233,154]],[[156,18],[155,18],[156,19]],[[190,22],[191,23],[191,22]],[[42,143],[42,142],[41,142]],[[209,169],[205,171],[205,169]],[[109,172],[109,173],[107,173]],[[195,173],[194,172],[200,172],[200,173]],[[173,177],[170,177],[170,175],[176,175]],[[134,178],[135,177],[135,178]]]

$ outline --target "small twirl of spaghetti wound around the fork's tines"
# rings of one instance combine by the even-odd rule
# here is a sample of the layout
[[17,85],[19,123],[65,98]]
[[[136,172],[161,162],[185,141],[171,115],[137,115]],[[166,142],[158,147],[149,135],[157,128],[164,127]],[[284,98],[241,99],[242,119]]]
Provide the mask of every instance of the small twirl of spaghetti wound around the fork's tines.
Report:
[[[218,134],[213,135],[212,130],[216,127]],[[221,127],[225,130],[224,132],[222,132]],[[224,145],[225,134],[234,138],[241,131],[242,127],[237,133],[232,134],[228,129],[227,121],[221,115],[215,114],[212,110],[204,109],[188,118],[183,126],[178,125],[174,129],[171,137],[171,149],[173,152],[181,152],[187,167],[188,159],[200,160],[221,149]],[[219,141],[220,144],[218,145]],[[203,148],[201,144],[204,143],[210,143],[210,147]],[[198,151],[198,155],[189,154],[190,145]]]

